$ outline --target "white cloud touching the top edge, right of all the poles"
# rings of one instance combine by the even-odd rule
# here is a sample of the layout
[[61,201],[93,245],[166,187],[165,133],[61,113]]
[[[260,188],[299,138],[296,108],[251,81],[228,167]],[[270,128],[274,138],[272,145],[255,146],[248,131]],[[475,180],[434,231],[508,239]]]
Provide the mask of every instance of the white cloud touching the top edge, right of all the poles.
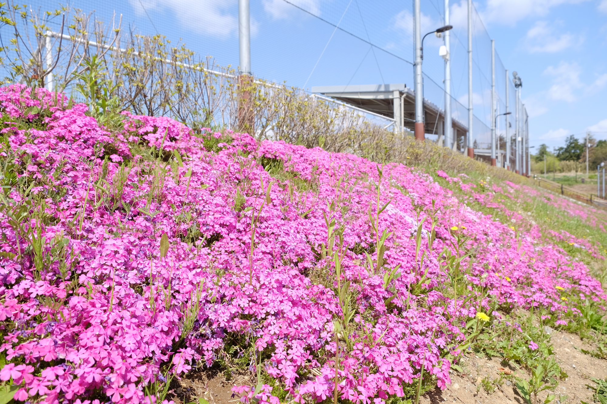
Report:
[[583,1],[587,0],[487,0],[487,6],[480,13],[485,22],[513,25],[528,16],[544,16],[557,5]]

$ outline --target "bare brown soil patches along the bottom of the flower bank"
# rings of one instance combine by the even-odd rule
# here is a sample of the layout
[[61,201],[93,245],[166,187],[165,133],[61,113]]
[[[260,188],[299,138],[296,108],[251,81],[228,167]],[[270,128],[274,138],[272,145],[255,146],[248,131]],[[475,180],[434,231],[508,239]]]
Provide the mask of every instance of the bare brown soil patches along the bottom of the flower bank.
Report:
[[[555,404],[578,404],[580,400],[591,403],[592,391],[586,384],[593,385],[590,377],[604,379],[607,377],[607,360],[597,359],[583,354],[580,349],[591,349],[583,343],[577,335],[565,332],[552,331],[551,340],[557,362],[569,377],[562,380],[554,393],[557,398]],[[421,404],[438,404],[443,402],[459,402],[463,404],[523,404],[524,400],[514,387],[514,382],[503,380],[503,384],[495,391],[487,393],[481,386],[481,379],[490,375],[492,379],[499,379],[501,374],[517,375],[528,379],[529,374],[518,369],[512,363],[500,362],[499,359],[479,358],[468,354],[459,362],[464,372],[460,374],[452,371],[452,384],[441,391],[435,389],[419,398]],[[514,379],[513,379],[514,380]],[[175,404],[195,402],[198,397],[206,398],[210,404],[236,403],[239,397],[232,397],[231,388],[234,385],[251,385],[248,375],[232,375],[231,380],[225,380],[222,372],[207,370],[191,372],[187,379],[176,380],[171,388]],[[538,395],[538,402],[543,403],[548,391]],[[567,396],[565,398],[565,396]],[[557,401],[558,400],[558,401]]]

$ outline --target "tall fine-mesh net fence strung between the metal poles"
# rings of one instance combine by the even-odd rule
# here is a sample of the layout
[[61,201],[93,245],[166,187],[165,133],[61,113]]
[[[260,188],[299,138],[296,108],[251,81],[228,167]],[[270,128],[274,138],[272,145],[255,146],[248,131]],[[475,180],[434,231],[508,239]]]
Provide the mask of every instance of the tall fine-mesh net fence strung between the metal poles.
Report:
[[[421,7],[422,35],[444,25],[444,2],[422,1]],[[59,4],[56,1],[36,0],[23,11],[41,15],[41,12],[52,12],[58,8]],[[61,10],[58,15],[46,19],[47,29],[53,32],[60,32],[63,29],[64,33],[73,36],[78,35],[79,28],[83,29],[84,25],[89,24],[89,37],[86,39],[95,41],[90,35],[90,27],[97,26],[107,33],[102,41],[106,47],[125,48],[127,45],[137,43],[143,52],[156,52],[160,59],[183,64],[204,65],[204,69],[208,72],[218,71],[223,74],[223,76],[219,75],[217,80],[228,81],[229,86],[237,85],[235,73],[239,63],[238,12],[237,2],[234,0],[226,2],[75,0],[70,3],[69,13],[66,14],[67,21],[62,21],[61,13],[66,13],[66,10]],[[76,22],[74,16],[78,16]],[[450,31],[452,116],[453,120],[467,127],[466,2],[452,2],[450,16],[450,23],[453,25]],[[82,26],[78,27],[78,24]],[[112,34],[118,26],[121,28],[120,38],[114,43]],[[404,3],[368,0],[335,0],[328,3],[317,0],[254,1],[251,2],[252,70],[256,78],[264,79],[269,83],[286,83],[308,93],[313,86],[350,84],[404,83],[412,88],[413,26],[412,0]],[[32,24],[29,25],[29,29],[33,29]],[[14,29],[10,25],[0,28],[4,46],[8,45],[7,42],[13,33]],[[166,43],[164,49],[146,49],[144,37],[155,35],[166,37],[170,43]],[[424,42],[423,64],[424,98],[441,110],[444,110],[445,104],[444,59],[439,56],[438,49],[443,44],[442,38],[429,35]],[[51,45],[55,55],[60,45],[64,53],[69,50],[66,42],[61,44],[60,38],[55,37]],[[30,42],[29,46],[34,49],[36,44]],[[499,44],[496,47],[499,49]],[[89,46],[89,49],[84,51],[80,49],[80,54],[100,54],[100,49]],[[192,52],[188,53],[188,51]],[[41,51],[40,57],[44,58],[44,55],[45,53]],[[120,64],[125,58],[131,58],[132,64],[137,64],[134,60],[137,55],[132,53],[125,55],[109,52],[107,55],[112,56],[113,64]],[[75,72],[73,66],[79,62],[78,58],[71,60],[67,56],[69,55],[64,54],[61,63],[71,64],[72,70],[65,70],[64,81],[70,81],[70,77],[74,77],[70,75]],[[492,46],[489,33],[476,8],[472,10],[472,59],[474,114],[472,136],[475,149],[489,150],[492,138],[490,129],[492,126]],[[506,67],[496,51],[495,114],[506,112],[506,104],[508,111],[512,112],[511,115],[499,116],[497,120],[498,160],[501,162],[504,159],[514,161],[517,144],[514,113],[517,100],[512,85],[512,70],[515,69],[510,68],[507,76]],[[171,67],[167,67],[166,72],[174,76],[186,74],[171,72]],[[29,73],[34,74],[34,72]],[[136,76],[135,74],[131,80],[132,86],[135,87],[138,85]],[[59,77],[55,78],[57,82],[59,79]],[[148,83],[155,81],[154,77],[145,79]],[[72,90],[69,85],[66,89]],[[167,108],[167,103],[160,103],[161,107],[157,110],[150,109],[146,106],[146,93],[143,90],[131,104],[135,109],[139,108],[138,112],[141,113],[178,117],[198,113],[200,116],[195,117],[195,120],[200,121],[201,124],[208,121],[207,115],[210,113],[217,115],[212,117],[215,123],[223,123],[227,126],[234,124],[234,117],[237,115],[236,100],[233,98],[224,100],[222,107],[217,107],[220,95],[214,93],[214,88],[207,87],[204,91],[201,89],[202,87],[198,87],[192,92],[203,93],[204,95],[199,97],[206,97],[206,100],[183,104],[181,111],[177,112]],[[268,91],[272,92],[272,90]],[[133,92],[136,93],[135,90]],[[508,98],[507,102],[506,98]],[[215,107],[212,107],[214,105]],[[199,109],[198,112],[188,110],[194,107]],[[526,112],[521,113],[521,120],[522,115],[526,116]],[[192,116],[189,118],[193,119]],[[378,116],[367,115],[367,118],[372,118],[384,126],[390,123],[390,120],[382,121]],[[528,132],[524,129],[526,126],[521,124],[520,127],[520,135],[528,138]],[[430,129],[427,129],[427,137],[438,138],[439,128],[435,126]],[[456,149],[464,149],[464,135],[465,133],[458,133]],[[506,156],[507,137],[512,146],[510,156]],[[528,140],[524,144],[528,145]]]

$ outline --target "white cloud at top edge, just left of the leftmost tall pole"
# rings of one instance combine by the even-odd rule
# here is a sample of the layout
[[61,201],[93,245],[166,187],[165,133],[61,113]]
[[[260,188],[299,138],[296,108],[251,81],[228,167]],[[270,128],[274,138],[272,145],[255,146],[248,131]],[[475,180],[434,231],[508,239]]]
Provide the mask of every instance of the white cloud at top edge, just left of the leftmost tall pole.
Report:
[[[147,18],[146,11],[165,13],[171,11],[179,22],[191,30],[219,38],[229,38],[238,33],[238,4],[236,0],[129,0],[135,13]],[[141,7],[145,7],[145,10]],[[150,15],[152,16],[152,15]],[[152,21],[154,21],[152,19]],[[255,25],[251,24],[254,33]]]

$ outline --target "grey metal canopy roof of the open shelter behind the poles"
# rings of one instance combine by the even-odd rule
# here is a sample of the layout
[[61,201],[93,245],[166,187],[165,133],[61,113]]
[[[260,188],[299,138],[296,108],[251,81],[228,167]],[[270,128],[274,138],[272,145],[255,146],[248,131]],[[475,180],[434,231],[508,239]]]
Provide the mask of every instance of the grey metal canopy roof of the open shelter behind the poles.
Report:
[[[347,104],[359,107],[373,113],[379,113],[387,118],[394,119],[395,92],[404,97],[404,126],[413,130],[415,123],[415,92],[405,84],[362,84],[348,86],[317,86],[312,87],[313,93],[319,93],[338,99]],[[424,99],[424,112],[426,115],[426,133],[438,133],[438,122],[443,121],[444,111],[439,109],[427,99]],[[468,128],[458,120],[452,119],[453,129],[465,133]]]

